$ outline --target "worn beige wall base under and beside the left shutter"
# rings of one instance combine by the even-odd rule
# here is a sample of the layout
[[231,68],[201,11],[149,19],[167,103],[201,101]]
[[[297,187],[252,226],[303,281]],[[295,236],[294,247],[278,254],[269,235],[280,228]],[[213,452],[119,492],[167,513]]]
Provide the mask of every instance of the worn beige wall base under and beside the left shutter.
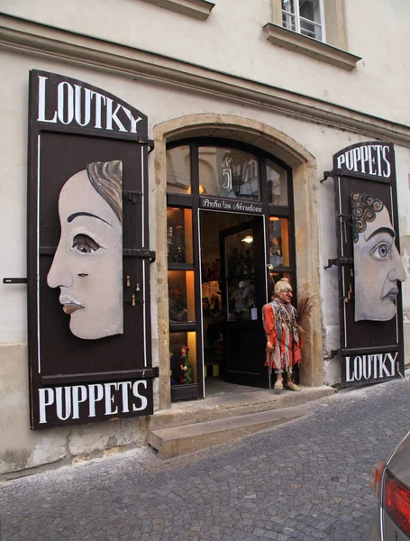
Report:
[[143,445],[146,419],[30,430],[27,345],[0,345],[0,479],[39,466],[68,464]]

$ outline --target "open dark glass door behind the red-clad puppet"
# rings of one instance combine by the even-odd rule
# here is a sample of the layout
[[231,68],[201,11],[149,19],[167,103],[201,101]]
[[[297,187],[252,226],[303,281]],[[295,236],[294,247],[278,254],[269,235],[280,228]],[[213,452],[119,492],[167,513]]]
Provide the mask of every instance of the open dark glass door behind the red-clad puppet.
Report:
[[266,298],[263,218],[220,234],[223,298],[223,377],[260,386],[264,364],[262,307]]

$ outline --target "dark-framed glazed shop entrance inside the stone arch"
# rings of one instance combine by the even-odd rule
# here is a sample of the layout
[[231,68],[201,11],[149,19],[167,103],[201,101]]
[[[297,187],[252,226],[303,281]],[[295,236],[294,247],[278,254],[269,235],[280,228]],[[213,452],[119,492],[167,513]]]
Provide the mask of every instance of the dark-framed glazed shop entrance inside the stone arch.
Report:
[[[241,142],[192,138],[167,149],[172,399],[216,381],[266,387],[262,307],[296,290],[292,173]],[[182,355],[181,355],[182,353]]]

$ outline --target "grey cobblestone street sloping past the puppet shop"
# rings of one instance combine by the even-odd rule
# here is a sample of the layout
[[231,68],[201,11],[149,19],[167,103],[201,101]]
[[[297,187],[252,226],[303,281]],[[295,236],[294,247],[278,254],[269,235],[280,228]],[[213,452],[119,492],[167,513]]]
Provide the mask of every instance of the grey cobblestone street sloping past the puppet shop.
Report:
[[370,466],[410,428],[410,380],[308,408],[185,457],[132,450],[5,481],[2,541],[361,541],[376,506]]

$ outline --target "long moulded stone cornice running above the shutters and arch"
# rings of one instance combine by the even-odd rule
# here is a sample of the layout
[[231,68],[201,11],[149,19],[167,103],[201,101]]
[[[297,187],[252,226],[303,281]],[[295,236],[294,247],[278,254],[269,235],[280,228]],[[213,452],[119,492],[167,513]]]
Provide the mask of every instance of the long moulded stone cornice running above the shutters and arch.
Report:
[[410,147],[410,127],[182,60],[0,14],[0,49],[160,82]]

